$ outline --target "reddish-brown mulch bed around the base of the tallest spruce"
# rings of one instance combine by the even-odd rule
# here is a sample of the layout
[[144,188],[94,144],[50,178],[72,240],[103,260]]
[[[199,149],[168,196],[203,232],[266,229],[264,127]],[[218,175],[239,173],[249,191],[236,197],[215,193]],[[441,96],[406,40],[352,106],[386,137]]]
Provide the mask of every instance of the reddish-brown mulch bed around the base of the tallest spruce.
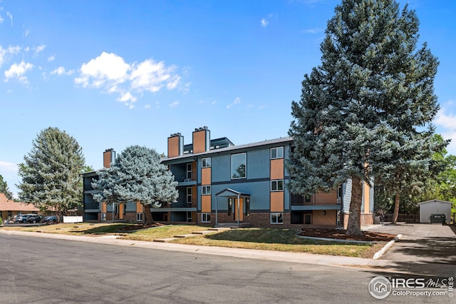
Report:
[[338,240],[366,240],[370,242],[389,242],[395,238],[395,234],[377,233],[363,231],[363,235],[348,235],[343,229],[319,229],[309,228],[299,233],[301,236],[312,236],[314,238],[336,238]]

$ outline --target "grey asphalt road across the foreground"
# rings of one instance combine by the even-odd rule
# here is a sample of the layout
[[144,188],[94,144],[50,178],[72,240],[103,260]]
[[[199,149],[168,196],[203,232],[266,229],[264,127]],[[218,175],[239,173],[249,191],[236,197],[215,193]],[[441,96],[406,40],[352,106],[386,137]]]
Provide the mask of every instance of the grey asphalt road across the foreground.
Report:
[[[0,303],[371,303],[365,268],[0,234]],[[384,303],[448,303],[391,297]]]

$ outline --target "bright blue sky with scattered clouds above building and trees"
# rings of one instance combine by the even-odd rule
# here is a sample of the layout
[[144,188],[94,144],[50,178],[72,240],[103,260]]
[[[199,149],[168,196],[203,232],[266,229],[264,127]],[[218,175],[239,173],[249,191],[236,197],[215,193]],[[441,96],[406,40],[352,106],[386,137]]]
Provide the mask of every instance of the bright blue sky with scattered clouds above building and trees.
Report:
[[[287,136],[291,101],[320,64],[341,1],[1,1],[0,174],[44,128],[76,138],[86,163],[139,144],[166,153],[170,133],[208,126],[235,144]],[[399,1],[440,60],[437,133],[456,154],[456,1]]]

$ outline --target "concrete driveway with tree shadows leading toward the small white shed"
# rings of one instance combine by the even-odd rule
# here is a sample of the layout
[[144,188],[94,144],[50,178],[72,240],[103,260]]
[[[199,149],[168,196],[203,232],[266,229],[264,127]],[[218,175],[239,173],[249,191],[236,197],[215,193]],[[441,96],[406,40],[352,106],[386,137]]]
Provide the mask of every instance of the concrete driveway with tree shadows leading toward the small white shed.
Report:
[[[424,223],[388,225],[386,223],[385,226],[374,225],[365,230],[403,235],[386,251],[381,257],[382,260],[393,260],[398,263],[456,265],[456,232],[450,226]],[[450,267],[455,269],[456,274],[456,267]]]

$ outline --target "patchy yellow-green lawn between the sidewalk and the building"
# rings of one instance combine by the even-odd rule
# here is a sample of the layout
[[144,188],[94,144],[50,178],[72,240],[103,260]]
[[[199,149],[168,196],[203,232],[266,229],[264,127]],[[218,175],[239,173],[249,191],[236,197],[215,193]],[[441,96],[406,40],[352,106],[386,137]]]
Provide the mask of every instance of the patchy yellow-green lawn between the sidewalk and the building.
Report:
[[[4,226],[1,230],[22,230],[42,233],[60,233],[71,235],[121,235],[120,238],[128,240],[152,241],[157,238],[172,238],[175,235],[191,234],[193,231],[207,230],[202,226],[170,225],[158,226],[135,230],[134,232],[120,232],[120,229],[130,224],[127,223],[76,223],[54,224],[37,227]],[[323,240],[309,240],[298,238],[296,229],[272,229],[272,228],[242,228],[214,231],[206,235],[195,237],[178,238],[172,243],[188,245],[219,246],[229,248],[247,248],[261,250],[277,250],[296,253],[314,253],[324,255],[341,255],[361,258],[372,258],[373,254],[380,250],[383,243],[373,245],[349,244],[328,242]]]

